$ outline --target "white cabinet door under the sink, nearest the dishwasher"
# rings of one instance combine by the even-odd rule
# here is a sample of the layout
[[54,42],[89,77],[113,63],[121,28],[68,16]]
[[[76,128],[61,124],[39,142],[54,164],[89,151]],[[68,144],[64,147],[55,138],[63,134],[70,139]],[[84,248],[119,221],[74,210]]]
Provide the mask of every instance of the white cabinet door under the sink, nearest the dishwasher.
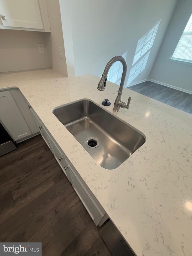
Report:
[[[91,216],[92,220],[94,221],[95,225],[97,226],[100,224],[102,218],[105,215],[104,209],[102,209],[101,205],[99,204],[98,200],[90,193],[87,185],[84,181],[77,175],[77,173],[68,166],[70,170],[71,176],[71,184],[76,191],[78,197],[82,201],[83,205],[85,206],[88,214]],[[67,168],[67,169],[68,169]]]

